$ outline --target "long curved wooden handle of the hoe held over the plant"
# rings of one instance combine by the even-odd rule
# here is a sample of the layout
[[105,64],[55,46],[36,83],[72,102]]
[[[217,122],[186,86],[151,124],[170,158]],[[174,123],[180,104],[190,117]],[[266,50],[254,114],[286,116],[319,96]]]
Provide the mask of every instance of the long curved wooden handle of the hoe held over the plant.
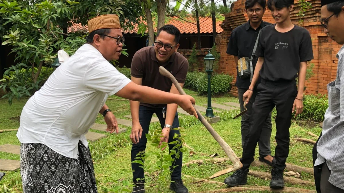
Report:
[[[177,80],[174,78],[174,76],[167,71],[164,67],[159,67],[159,72],[161,75],[168,77],[172,80],[174,86],[177,88],[180,94],[185,94],[184,90],[180,86],[180,84],[177,82]],[[198,119],[202,122],[202,124],[205,126],[205,128],[208,129],[209,133],[212,134],[212,136],[215,138],[217,143],[222,147],[222,149],[225,151],[226,155],[229,157],[230,161],[233,163],[233,170],[238,170],[243,167],[243,164],[240,162],[239,158],[235,155],[232,148],[229,147],[229,145],[219,136],[216,131],[213,129],[213,127],[207,122],[207,120],[203,117],[203,115],[197,111],[195,105],[193,107],[196,110],[196,113],[198,115]]]

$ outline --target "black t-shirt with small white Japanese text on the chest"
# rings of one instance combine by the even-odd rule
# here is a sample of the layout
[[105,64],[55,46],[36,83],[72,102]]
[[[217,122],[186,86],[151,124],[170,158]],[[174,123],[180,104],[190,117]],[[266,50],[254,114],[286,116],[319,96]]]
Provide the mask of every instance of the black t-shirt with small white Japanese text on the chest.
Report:
[[266,26],[259,36],[256,55],[264,57],[260,77],[269,81],[292,81],[298,77],[300,62],[313,59],[312,39],[309,32],[295,25],[281,33],[276,24]]

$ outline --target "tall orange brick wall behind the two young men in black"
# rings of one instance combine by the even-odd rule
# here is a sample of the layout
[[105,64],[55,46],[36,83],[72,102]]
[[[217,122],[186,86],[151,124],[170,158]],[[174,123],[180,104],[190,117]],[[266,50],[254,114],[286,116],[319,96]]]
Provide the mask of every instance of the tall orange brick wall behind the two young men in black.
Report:
[[[320,24],[320,0],[307,0],[312,3],[311,9],[304,12],[305,17],[302,24],[311,34],[313,44],[314,59],[311,63],[314,64],[313,73],[314,76],[306,81],[307,87],[305,93],[327,93],[326,84],[333,81],[336,77],[336,70],[338,60],[336,54],[341,45],[338,45],[331,38],[327,37],[323,33],[323,27]],[[234,82],[236,81],[236,64],[234,57],[226,54],[227,44],[229,42],[229,36],[235,27],[244,24],[248,21],[247,14],[245,13],[245,0],[238,0],[234,2],[232,12],[225,15],[225,20],[221,24],[224,31],[218,35],[216,44],[221,54],[221,62],[219,70],[227,73],[228,75],[234,75]],[[297,1],[295,1],[294,11],[291,13],[292,22],[299,25],[300,16],[297,16],[299,12]],[[271,13],[267,10],[263,17],[264,21],[275,23]],[[237,89],[233,86],[231,93],[237,95]]]

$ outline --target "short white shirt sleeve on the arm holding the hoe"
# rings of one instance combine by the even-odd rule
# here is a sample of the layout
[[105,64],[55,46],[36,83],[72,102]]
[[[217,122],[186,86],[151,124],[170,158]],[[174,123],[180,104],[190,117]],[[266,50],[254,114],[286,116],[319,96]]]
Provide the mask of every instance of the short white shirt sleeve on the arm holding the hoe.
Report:
[[106,60],[92,62],[84,76],[84,84],[87,88],[95,89],[114,95],[125,87],[131,80],[120,73]]

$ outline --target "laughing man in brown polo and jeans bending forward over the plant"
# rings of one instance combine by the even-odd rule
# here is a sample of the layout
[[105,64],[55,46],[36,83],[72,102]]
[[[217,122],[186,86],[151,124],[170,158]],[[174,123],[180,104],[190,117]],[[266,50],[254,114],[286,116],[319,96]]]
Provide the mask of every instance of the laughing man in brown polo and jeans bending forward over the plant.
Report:
[[[186,79],[189,63],[187,59],[177,52],[179,47],[180,31],[173,25],[164,25],[157,33],[154,46],[148,46],[140,49],[135,53],[131,63],[131,80],[136,84],[148,86],[154,89],[179,94],[172,81],[159,73],[159,66],[163,66],[177,79],[183,87]],[[159,97],[159,96],[157,96]],[[130,139],[133,142],[131,148],[131,161],[135,161],[136,155],[146,149],[146,133],[149,130],[149,124],[153,113],[155,113],[161,124],[163,138],[162,143],[170,143],[174,134],[179,130],[171,130],[179,127],[177,104],[147,104],[137,101],[130,101],[130,110],[132,117],[132,128]],[[175,144],[169,145],[172,150]],[[174,158],[174,155],[172,156]],[[188,193],[187,188],[182,181],[182,158],[180,152],[179,159],[176,159],[171,167],[170,189],[177,193]],[[136,185],[133,192],[144,193],[144,171],[140,164],[131,164],[133,171],[133,182]],[[139,180],[137,180],[139,179]]]

